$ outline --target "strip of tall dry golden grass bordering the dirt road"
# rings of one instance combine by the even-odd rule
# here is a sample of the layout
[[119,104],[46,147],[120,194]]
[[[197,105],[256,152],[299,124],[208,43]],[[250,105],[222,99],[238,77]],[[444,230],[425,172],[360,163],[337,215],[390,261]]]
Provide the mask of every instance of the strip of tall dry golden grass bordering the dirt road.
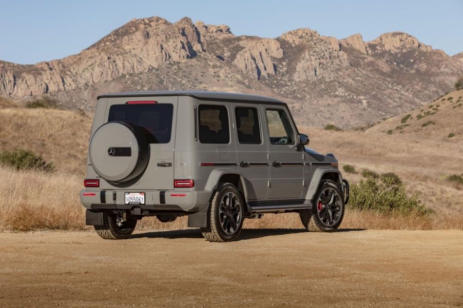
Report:
[[[0,230],[87,230],[85,211],[79,200],[82,177],[70,173],[53,175],[38,171],[14,171],[0,168],[4,183],[0,186]],[[155,217],[144,218],[138,230],[177,230],[187,228],[187,217],[161,223]],[[245,220],[244,228],[302,228],[299,215],[266,214],[262,219]],[[386,217],[372,212],[346,211],[341,228],[463,230],[463,217],[433,216]]]

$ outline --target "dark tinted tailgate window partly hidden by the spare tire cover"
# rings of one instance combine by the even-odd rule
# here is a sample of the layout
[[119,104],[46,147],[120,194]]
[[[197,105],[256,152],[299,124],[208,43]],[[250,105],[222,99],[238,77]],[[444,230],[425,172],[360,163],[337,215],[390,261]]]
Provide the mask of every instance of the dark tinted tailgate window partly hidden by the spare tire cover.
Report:
[[112,105],[108,121],[124,121],[140,127],[149,143],[168,143],[172,131],[171,104]]

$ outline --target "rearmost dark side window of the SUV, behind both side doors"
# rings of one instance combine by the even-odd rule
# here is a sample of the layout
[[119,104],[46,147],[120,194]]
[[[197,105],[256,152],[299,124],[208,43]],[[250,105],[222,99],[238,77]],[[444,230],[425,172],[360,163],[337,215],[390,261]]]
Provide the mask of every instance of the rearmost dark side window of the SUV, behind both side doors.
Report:
[[198,121],[201,143],[230,142],[228,112],[225,106],[200,105]]

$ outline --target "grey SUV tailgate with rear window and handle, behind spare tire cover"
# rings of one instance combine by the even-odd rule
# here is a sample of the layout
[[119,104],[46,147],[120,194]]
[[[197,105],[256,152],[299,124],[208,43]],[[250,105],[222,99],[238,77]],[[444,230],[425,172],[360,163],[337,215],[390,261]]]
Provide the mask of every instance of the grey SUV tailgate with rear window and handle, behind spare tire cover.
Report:
[[102,189],[173,189],[177,105],[178,96],[108,99],[105,122],[127,121],[140,127],[148,139],[150,154],[148,166],[141,177],[117,187],[102,180]]

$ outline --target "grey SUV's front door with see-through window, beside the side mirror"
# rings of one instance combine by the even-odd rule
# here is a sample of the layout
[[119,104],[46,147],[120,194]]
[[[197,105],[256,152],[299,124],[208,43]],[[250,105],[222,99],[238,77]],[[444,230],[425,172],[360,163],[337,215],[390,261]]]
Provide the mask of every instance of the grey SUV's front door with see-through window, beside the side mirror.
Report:
[[302,153],[297,151],[296,128],[284,106],[264,105],[270,154],[271,199],[300,199],[303,183]]

